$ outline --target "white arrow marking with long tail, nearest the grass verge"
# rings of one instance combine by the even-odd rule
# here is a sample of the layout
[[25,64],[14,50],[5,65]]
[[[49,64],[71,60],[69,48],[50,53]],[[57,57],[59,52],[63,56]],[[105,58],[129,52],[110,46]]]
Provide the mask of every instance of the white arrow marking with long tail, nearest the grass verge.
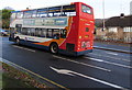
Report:
[[82,74],[79,74],[79,72],[76,72],[76,71],[72,71],[72,70],[67,70],[67,69],[56,69],[54,67],[50,67],[51,69],[53,69],[54,71],[56,71],[57,74],[64,74],[64,75],[77,75],[77,76],[80,76],[82,78],[87,78],[87,79],[90,79],[90,80],[94,80],[96,82],[100,82],[100,83],[103,83],[103,85],[107,85],[107,86],[110,86],[110,87],[113,87],[113,88],[118,88],[118,89],[123,89],[123,90],[128,90],[123,87],[120,87],[118,85],[114,85],[114,83],[110,83],[110,82],[107,82],[105,80],[100,80],[100,79],[97,79],[97,78],[94,78],[94,77],[89,77],[89,76],[86,76],[86,75],[82,75]]

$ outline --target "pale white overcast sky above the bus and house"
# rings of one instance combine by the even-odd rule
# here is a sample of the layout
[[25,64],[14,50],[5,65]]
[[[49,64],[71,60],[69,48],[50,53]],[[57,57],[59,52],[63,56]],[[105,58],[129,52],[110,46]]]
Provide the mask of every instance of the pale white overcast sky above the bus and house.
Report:
[[[0,0],[0,10],[4,7],[11,7],[14,10],[24,10],[43,8],[50,5],[61,5],[65,3],[81,1],[91,5],[95,10],[95,18],[102,19],[102,1],[103,0]],[[105,18],[111,18],[124,13],[130,14],[130,2],[132,0],[105,0]]]

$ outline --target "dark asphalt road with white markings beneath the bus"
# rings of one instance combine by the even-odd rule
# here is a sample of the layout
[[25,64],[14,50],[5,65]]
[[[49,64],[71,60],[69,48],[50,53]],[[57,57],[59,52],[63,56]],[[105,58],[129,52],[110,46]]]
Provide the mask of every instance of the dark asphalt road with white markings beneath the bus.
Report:
[[68,57],[23,45],[18,46],[9,42],[8,37],[1,38],[1,58],[66,88],[130,89],[132,86],[130,54],[94,49],[81,57]]

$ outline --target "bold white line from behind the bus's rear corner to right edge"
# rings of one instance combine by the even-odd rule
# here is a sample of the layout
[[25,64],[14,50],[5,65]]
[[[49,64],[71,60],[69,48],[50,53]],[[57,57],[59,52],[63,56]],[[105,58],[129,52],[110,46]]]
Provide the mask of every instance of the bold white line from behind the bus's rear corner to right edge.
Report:
[[89,58],[89,57],[84,57],[84,58],[88,58],[88,59],[91,59],[91,60],[95,60],[95,61],[106,63],[106,64],[110,64],[110,65],[116,65],[116,66],[120,66],[120,67],[124,67],[124,68],[132,68],[131,66],[116,64],[116,63],[112,63],[112,61],[106,61],[106,60],[102,60],[102,59]]

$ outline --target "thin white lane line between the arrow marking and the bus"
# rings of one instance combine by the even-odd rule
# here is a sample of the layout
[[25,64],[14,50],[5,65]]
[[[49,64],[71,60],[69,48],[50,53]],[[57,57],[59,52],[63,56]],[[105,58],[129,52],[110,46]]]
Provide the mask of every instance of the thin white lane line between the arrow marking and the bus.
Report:
[[84,65],[84,66],[87,66],[87,67],[92,67],[92,68],[96,68],[96,69],[99,69],[99,70],[103,70],[103,71],[108,71],[108,72],[111,71],[110,69],[106,69],[106,68],[102,68],[102,67],[98,67],[98,66],[94,66],[94,65],[89,65],[89,64],[85,64],[85,63],[67,59],[67,58],[55,56],[55,55],[53,55],[53,57],[59,58],[59,59],[64,59],[64,60],[67,60],[67,61],[72,61],[72,63],[75,63],[75,64]]

